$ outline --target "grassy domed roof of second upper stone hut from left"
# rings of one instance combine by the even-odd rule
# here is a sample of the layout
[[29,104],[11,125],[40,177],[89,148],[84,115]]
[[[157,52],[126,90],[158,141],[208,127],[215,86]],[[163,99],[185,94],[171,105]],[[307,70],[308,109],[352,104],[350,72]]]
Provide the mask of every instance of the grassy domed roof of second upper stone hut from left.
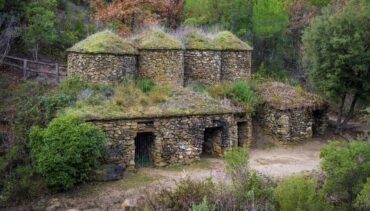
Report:
[[182,49],[182,43],[174,36],[154,28],[133,37],[135,45],[140,49]]

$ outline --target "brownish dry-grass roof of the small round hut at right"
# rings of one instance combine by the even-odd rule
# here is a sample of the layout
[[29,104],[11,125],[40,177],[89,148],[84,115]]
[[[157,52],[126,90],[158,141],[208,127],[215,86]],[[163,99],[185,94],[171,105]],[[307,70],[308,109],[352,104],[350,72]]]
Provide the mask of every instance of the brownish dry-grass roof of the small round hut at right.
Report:
[[263,103],[277,109],[321,107],[324,102],[318,95],[304,91],[300,86],[269,81],[258,86],[257,92]]

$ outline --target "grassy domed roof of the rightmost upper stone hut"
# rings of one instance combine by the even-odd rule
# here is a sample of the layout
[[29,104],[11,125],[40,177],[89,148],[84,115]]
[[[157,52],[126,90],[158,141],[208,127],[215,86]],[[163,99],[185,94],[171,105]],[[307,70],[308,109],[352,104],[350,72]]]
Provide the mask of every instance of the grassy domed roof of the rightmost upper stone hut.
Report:
[[223,50],[251,50],[252,48],[229,31],[217,34],[215,44]]

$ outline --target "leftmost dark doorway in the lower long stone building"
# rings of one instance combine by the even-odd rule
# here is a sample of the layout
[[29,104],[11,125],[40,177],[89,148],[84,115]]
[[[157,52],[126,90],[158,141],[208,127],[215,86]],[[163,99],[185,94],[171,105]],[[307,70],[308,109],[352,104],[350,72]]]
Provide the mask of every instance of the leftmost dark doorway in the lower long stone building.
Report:
[[154,134],[151,132],[138,133],[135,138],[135,167],[153,165]]

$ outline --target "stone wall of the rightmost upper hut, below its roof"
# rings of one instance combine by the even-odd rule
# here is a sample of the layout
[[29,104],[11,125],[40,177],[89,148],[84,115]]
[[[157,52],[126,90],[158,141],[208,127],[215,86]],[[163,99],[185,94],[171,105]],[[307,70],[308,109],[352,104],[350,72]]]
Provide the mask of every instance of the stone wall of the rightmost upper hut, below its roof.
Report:
[[250,79],[252,51],[222,51],[221,80]]

